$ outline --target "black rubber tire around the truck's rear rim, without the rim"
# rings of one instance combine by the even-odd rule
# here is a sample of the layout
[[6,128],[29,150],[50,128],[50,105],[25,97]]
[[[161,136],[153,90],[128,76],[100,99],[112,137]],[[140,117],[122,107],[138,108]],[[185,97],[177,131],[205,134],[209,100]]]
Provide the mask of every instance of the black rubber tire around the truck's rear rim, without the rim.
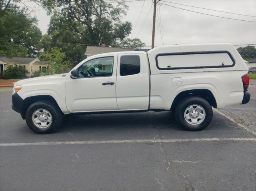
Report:
[[[186,121],[184,112],[191,105],[199,105],[205,110],[204,120],[200,124],[190,124]],[[212,120],[212,106],[204,98],[192,96],[183,99],[175,112],[176,120],[182,125],[182,127],[189,131],[200,131],[206,128]]]

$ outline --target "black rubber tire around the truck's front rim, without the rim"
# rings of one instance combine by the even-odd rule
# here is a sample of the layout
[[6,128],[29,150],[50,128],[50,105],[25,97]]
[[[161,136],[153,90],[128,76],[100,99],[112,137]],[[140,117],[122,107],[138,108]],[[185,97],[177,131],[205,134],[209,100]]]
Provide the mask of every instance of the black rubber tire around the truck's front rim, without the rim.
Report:
[[[32,121],[33,113],[38,109],[45,109],[52,115],[52,122],[47,128],[39,128]],[[38,134],[48,134],[56,131],[62,124],[63,113],[53,102],[46,100],[32,103],[26,110],[26,123],[28,127]]]

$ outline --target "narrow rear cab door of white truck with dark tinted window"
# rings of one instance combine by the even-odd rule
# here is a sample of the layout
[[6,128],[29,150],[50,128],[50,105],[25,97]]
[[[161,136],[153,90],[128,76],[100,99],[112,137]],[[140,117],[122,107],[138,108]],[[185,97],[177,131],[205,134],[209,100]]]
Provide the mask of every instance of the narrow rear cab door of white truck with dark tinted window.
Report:
[[149,77],[146,53],[118,54],[116,100],[119,110],[148,109]]

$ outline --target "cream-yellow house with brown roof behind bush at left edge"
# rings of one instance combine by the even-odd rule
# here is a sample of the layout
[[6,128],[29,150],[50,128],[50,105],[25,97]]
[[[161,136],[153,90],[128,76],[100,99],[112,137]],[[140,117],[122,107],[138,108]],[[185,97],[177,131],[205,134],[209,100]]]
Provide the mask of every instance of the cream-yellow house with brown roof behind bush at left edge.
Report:
[[27,69],[27,77],[32,77],[34,71],[46,69],[48,67],[47,61],[40,61],[38,58],[22,58],[22,57],[0,57],[0,73],[3,74],[4,70],[10,65],[18,65]]

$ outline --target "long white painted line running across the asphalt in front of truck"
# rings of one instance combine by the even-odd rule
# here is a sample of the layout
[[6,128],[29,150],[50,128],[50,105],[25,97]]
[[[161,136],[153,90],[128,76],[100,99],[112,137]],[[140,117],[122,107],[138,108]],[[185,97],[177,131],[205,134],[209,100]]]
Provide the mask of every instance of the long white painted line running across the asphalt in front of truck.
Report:
[[99,141],[62,141],[34,143],[1,143],[0,146],[42,146],[42,145],[72,145],[72,144],[110,144],[110,143],[175,143],[200,141],[256,141],[256,138],[201,138],[201,139],[142,139],[142,140],[99,140]]

